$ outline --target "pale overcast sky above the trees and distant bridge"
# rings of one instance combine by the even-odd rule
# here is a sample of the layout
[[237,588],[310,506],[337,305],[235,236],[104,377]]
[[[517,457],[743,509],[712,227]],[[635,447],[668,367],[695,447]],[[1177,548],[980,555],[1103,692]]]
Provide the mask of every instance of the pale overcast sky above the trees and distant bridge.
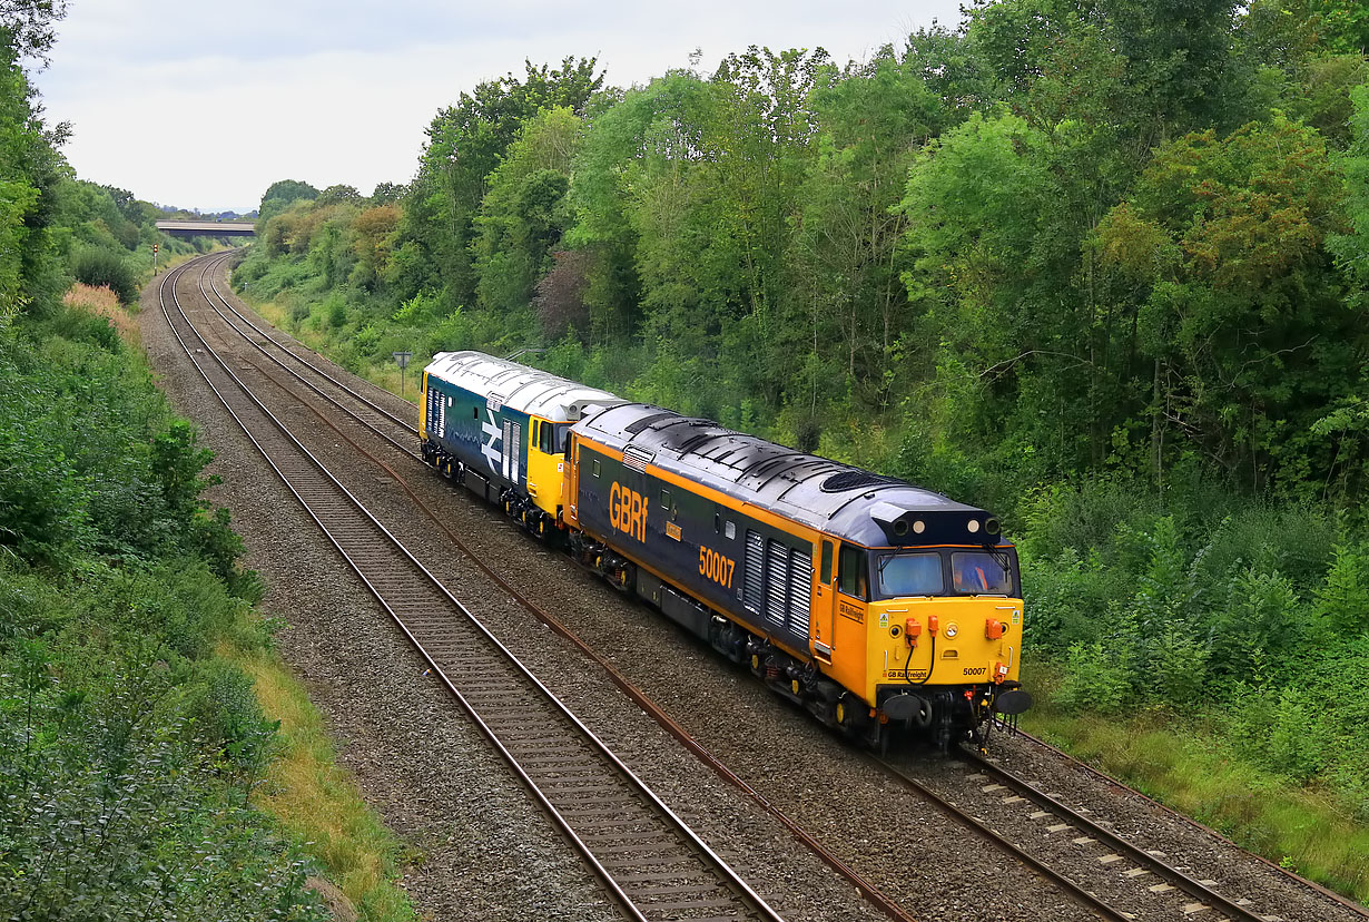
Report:
[[960,0],[68,0],[34,82],[82,179],[201,211],[249,211],[277,179],[408,182],[423,130],[485,79],[596,56],[646,84],[702,52],[901,47]]

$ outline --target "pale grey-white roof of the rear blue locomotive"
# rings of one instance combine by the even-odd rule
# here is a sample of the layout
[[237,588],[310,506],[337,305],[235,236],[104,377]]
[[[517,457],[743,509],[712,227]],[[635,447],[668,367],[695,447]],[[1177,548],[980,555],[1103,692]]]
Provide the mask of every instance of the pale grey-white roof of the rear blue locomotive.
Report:
[[472,393],[496,397],[511,410],[553,422],[575,422],[586,407],[623,403],[608,390],[470,349],[438,352],[424,371]]

